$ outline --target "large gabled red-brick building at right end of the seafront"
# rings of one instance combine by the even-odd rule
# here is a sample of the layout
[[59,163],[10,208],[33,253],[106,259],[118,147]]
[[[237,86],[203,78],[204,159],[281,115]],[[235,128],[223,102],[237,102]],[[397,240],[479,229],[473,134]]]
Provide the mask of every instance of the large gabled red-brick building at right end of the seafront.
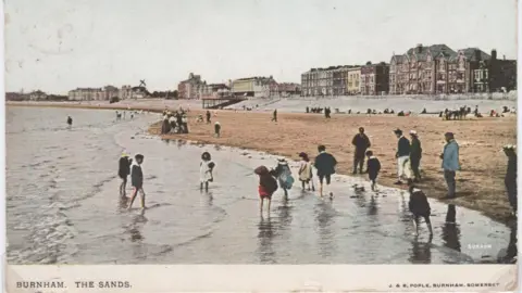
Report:
[[389,67],[390,94],[439,94],[509,91],[517,88],[517,62],[498,60],[478,48],[453,51],[446,44],[418,44],[394,54]]

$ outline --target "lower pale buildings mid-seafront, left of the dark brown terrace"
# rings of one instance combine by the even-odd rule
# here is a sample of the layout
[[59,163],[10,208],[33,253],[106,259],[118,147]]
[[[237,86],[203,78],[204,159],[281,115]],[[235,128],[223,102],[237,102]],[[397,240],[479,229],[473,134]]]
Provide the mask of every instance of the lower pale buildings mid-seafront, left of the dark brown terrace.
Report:
[[228,80],[226,84],[207,84],[200,75],[189,74],[188,79],[177,86],[179,99],[219,97],[285,97],[300,93],[299,84],[278,84],[272,76],[256,76]]

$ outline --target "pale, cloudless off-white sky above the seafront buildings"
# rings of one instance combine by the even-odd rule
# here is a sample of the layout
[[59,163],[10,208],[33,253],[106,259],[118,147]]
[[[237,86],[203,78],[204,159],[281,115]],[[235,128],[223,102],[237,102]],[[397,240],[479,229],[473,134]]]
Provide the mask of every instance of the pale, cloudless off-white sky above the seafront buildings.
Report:
[[5,0],[5,88],[174,90],[389,62],[417,43],[517,59],[514,0]]

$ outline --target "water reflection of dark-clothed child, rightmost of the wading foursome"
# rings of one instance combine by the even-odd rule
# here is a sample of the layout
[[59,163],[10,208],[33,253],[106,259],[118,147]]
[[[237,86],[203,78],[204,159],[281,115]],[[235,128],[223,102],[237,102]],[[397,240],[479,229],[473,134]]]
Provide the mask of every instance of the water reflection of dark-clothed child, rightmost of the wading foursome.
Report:
[[319,232],[319,254],[324,258],[332,258],[336,254],[334,232],[332,224],[334,222],[335,209],[330,202],[319,201],[315,206],[315,220]]

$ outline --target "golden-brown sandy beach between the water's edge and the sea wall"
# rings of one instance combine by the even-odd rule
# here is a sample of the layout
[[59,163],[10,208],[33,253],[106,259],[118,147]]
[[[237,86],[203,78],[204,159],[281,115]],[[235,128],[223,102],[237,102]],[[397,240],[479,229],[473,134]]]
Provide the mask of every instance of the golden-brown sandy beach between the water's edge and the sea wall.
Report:
[[[421,169],[423,181],[419,184],[428,196],[442,199],[446,195],[446,183],[440,169],[439,154],[444,146],[444,133],[452,131],[460,145],[462,170],[457,174],[456,200],[448,203],[483,212],[504,222],[510,219],[510,206],[504,186],[507,158],[501,146],[517,143],[515,116],[443,122],[438,117],[391,115],[333,115],[325,119],[320,114],[279,113],[278,122],[271,123],[272,114],[253,112],[219,111],[213,122],[222,125],[221,138],[214,138],[213,125],[196,123],[200,112],[192,111],[189,117],[189,135],[169,135],[178,138],[236,148],[265,151],[298,160],[299,152],[312,157],[316,146],[325,144],[339,162],[337,173],[349,175],[352,170],[353,148],[351,139],[363,126],[372,142],[372,150],[380,158],[383,169],[378,183],[396,187],[397,167],[395,152],[396,128],[408,132],[414,129],[420,135],[423,148]],[[150,133],[160,132],[157,123]],[[358,175],[366,178],[366,175]],[[406,189],[406,186],[399,188]]]

